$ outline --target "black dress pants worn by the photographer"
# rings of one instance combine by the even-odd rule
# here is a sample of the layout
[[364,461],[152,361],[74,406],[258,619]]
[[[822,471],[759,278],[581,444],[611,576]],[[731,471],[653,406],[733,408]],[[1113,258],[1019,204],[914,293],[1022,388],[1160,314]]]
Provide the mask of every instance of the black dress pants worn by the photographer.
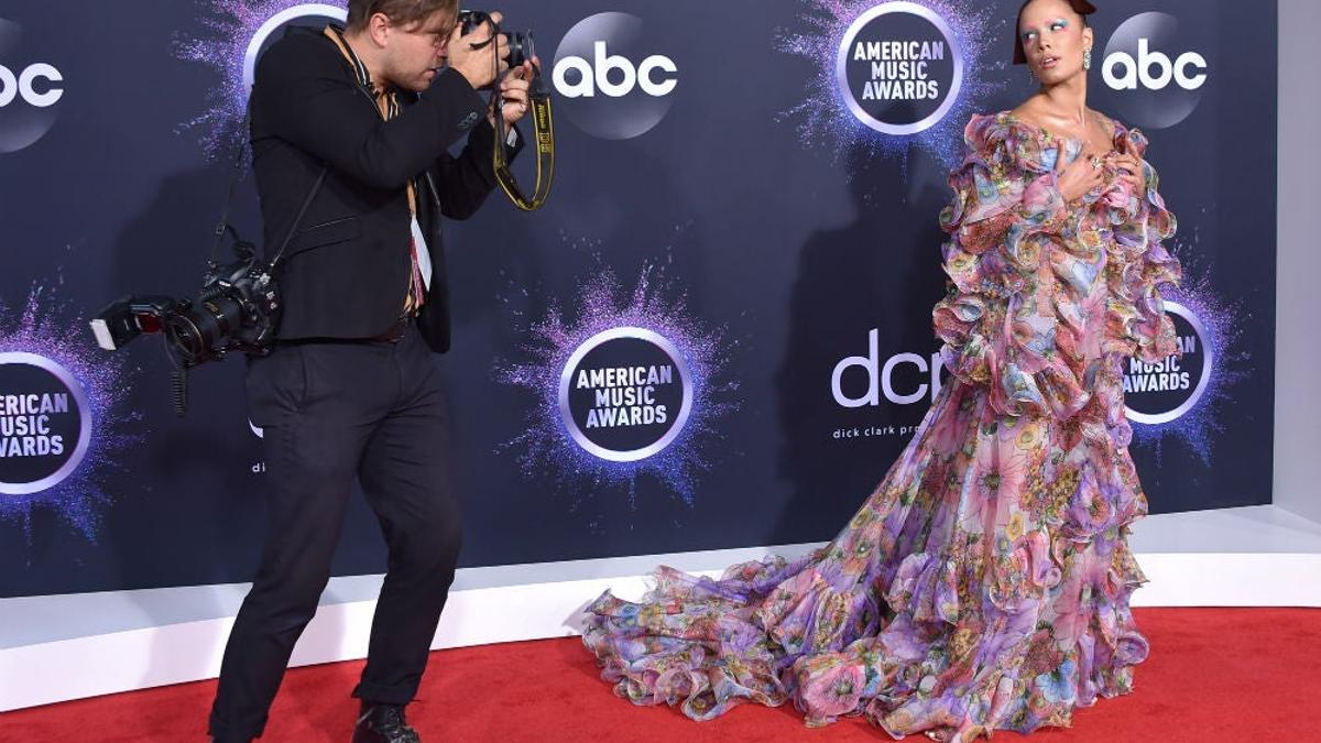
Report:
[[264,428],[271,531],[225,648],[210,734],[262,734],[293,644],[330,578],[355,476],[390,558],[353,695],[412,701],[460,543],[431,350],[411,324],[394,342],[280,344],[250,360],[247,394],[252,422]]

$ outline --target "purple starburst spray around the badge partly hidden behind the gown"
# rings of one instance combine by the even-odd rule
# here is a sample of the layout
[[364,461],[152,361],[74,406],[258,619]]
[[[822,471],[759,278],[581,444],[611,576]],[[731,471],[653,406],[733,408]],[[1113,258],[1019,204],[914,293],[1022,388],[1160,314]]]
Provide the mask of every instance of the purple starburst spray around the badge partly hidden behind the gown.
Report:
[[[1198,242],[1197,235],[1193,243]],[[1157,460],[1168,439],[1182,440],[1207,465],[1211,444],[1225,431],[1217,418],[1219,407],[1230,399],[1230,390],[1252,374],[1251,356],[1238,348],[1243,334],[1242,303],[1225,301],[1211,287],[1210,272],[1198,262],[1197,253],[1186,245],[1172,251],[1184,262],[1184,283],[1164,287],[1161,296],[1186,307],[1202,324],[1202,344],[1211,353],[1210,379],[1197,403],[1168,423],[1132,423],[1133,442],[1153,447]]]

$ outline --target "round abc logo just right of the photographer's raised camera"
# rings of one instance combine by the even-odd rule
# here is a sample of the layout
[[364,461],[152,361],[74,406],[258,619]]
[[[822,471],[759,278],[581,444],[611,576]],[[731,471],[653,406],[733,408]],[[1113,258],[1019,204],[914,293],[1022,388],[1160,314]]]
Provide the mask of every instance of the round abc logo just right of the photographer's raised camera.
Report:
[[633,139],[660,123],[674,106],[679,66],[642,38],[642,19],[597,13],[569,29],[551,71],[564,111],[601,139]]

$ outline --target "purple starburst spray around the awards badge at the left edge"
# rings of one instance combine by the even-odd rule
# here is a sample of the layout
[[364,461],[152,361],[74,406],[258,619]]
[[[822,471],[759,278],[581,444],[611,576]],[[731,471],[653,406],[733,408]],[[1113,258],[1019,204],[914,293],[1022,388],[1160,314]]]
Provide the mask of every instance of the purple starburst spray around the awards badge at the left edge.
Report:
[[[141,440],[127,431],[141,415],[122,411],[129,391],[125,368],[91,341],[86,320],[48,288],[34,287],[17,319],[12,312],[0,303],[0,353],[29,353],[66,369],[86,397],[91,436],[78,468],[54,487],[0,494],[0,521],[20,521],[30,533],[33,512],[46,508],[95,542],[100,513],[112,501],[100,477],[120,469],[120,455]],[[73,319],[61,320],[66,317]]]

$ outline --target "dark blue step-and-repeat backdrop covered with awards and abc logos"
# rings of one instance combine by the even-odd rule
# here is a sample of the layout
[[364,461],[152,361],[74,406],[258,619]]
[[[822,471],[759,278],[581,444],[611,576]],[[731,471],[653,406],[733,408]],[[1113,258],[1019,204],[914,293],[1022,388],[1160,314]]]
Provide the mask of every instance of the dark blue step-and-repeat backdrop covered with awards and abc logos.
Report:
[[[1091,104],[1180,219],[1181,358],[1127,369],[1155,513],[1269,502],[1275,3],[1098,3]],[[436,357],[462,565],[826,541],[942,375],[946,177],[1033,90],[1017,0],[509,0],[555,97],[550,204],[446,225]],[[0,596],[243,582],[271,488],[244,360],[177,418],[125,295],[196,296],[255,59],[337,3],[0,7]],[[1288,156],[1288,153],[1281,153]],[[531,157],[518,164],[524,178]],[[234,223],[256,237],[251,182]],[[1288,338],[1285,338],[1285,342]],[[384,568],[361,497],[337,574]]]

